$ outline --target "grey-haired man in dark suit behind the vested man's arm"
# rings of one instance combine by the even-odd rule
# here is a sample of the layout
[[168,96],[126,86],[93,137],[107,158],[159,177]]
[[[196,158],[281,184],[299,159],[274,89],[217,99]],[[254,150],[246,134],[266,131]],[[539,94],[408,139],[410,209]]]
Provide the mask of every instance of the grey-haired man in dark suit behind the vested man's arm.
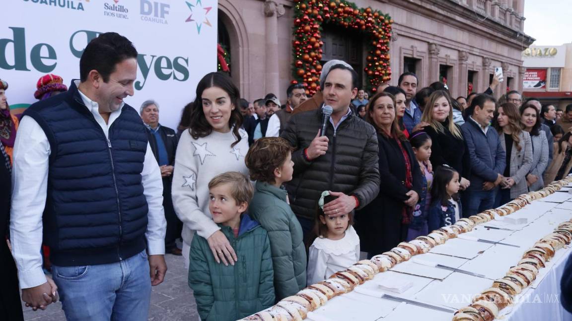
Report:
[[157,163],[161,168],[163,178],[163,207],[167,220],[165,235],[165,252],[181,255],[181,249],[175,241],[181,237],[182,222],[177,218],[171,199],[171,182],[175,153],[177,151],[177,135],[174,130],[159,124],[159,105],[153,100],[145,101],[140,109],[141,119],[149,129],[149,145]]

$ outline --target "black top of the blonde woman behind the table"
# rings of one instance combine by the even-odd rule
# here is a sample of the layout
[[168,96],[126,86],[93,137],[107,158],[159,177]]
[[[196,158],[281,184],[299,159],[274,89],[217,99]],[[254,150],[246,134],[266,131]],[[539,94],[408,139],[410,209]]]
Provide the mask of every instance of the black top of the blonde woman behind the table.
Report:
[[[471,157],[467,150],[467,143],[459,139],[447,129],[448,120],[443,122],[444,133],[439,133],[431,126],[426,126],[423,131],[431,137],[431,165],[434,169],[443,164],[455,168],[460,177],[468,179],[471,174]],[[460,130],[460,127],[455,124]],[[462,133],[462,132],[461,132]],[[462,135],[462,134],[461,134]]]

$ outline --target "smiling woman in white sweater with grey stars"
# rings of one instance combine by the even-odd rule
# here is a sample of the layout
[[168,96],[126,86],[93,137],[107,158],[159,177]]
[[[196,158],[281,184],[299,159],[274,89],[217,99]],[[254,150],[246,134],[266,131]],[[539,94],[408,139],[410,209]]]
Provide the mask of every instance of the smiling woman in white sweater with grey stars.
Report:
[[248,135],[240,129],[239,89],[223,73],[209,73],[197,85],[190,128],[181,134],[173,171],[172,197],[184,223],[182,254],[189,267],[189,249],[196,232],[208,240],[215,260],[234,264],[236,254],[209,211],[210,180],[227,171],[248,175],[244,156]]

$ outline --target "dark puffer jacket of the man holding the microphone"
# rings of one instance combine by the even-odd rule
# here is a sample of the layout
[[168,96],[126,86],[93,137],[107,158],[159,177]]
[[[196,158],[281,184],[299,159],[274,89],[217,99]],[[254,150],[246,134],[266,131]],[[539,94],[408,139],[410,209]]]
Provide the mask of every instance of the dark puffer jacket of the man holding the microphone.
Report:
[[286,183],[292,211],[314,219],[317,201],[323,191],[355,195],[359,208],[371,202],[379,192],[378,138],[375,129],[354,113],[334,129],[328,123],[329,139],[325,155],[307,160],[303,153],[321,128],[321,110],[292,115],[281,137],[294,147],[293,179]]

